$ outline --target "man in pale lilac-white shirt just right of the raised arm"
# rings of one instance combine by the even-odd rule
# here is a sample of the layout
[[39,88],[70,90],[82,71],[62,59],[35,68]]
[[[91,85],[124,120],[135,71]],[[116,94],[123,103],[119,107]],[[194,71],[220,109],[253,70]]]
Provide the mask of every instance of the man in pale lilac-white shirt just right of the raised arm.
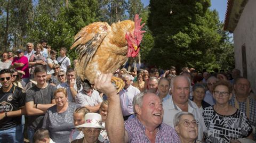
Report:
[[124,120],[127,120],[129,116],[134,114],[132,101],[133,97],[140,93],[138,88],[132,86],[132,77],[130,74],[123,74],[122,80],[124,81],[124,88],[119,92],[120,103]]

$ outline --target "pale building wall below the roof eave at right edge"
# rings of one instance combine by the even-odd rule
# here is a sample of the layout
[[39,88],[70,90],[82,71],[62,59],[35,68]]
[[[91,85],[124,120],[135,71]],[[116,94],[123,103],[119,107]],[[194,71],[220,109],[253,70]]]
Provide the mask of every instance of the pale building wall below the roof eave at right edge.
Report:
[[241,70],[242,45],[246,46],[247,78],[251,82],[251,88],[256,93],[256,1],[249,0],[234,30],[235,66]]

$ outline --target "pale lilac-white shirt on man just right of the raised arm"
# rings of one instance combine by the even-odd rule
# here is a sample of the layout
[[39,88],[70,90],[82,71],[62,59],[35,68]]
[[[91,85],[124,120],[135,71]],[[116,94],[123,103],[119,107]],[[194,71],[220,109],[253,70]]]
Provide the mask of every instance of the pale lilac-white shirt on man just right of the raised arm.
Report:
[[127,89],[123,88],[119,92],[123,116],[133,114],[132,100],[133,97],[139,93],[140,90],[132,85],[130,85]]

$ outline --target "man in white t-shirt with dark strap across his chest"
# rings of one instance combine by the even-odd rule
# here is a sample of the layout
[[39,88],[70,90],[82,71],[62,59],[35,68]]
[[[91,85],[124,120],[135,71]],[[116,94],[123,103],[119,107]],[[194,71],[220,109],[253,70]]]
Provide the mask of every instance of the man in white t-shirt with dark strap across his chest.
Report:
[[65,72],[67,71],[68,68],[70,68],[70,65],[71,65],[70,59],[66,56],[67,52],[68,52],[67,48],[65,47],[60,48],[60,52],[59,52],[60,56],[57,58],[57,61],[60,65],[61,70]]

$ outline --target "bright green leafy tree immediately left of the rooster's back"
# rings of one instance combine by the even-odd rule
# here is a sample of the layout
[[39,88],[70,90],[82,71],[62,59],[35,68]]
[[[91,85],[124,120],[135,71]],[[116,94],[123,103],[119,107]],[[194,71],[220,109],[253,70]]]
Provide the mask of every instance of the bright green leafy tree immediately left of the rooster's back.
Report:
[[[46,10],[47,7],[48,10]],[[26,41],[38,43],[39,40],[46,39],[57,51],[60,47],[69,48],[78,31],[87,24],[99,20],[97,0],[70,0],[68,7],[66,1],[44,0],[42,3],[38,3],[36,10],[35,24],[31,24],[30,35]],[[68,56],[74,60],[77,56],[75,50],[68,51]]]

